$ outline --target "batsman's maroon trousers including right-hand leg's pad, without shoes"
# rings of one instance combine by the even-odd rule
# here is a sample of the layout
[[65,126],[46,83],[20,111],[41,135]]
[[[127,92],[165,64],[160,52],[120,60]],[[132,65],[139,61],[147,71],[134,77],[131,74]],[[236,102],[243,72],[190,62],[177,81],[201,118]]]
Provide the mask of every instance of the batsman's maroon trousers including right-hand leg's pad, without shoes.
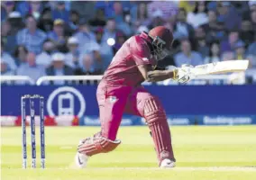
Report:
[[166,114],[156,96],[142,86],[110,86],[101,82],[96,97],[103,137],[116,139],[123,112],[138,115],[145,118],[150,127],[159,161],[174,159]]

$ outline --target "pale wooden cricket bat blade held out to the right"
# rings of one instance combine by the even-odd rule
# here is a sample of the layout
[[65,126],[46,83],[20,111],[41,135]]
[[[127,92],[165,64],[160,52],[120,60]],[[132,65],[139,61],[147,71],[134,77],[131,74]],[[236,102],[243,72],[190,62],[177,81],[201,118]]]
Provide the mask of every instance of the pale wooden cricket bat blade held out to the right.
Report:
[[199,65],[191,69],[195,76],[241,72],[248,68],[249,60],[227,60]]

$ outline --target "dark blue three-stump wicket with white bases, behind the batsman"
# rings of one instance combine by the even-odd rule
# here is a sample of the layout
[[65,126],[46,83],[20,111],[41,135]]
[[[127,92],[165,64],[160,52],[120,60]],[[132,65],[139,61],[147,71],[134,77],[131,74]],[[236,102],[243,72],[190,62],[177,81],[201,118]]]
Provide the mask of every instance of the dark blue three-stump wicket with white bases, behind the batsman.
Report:
[[25,94],[22,96],[22,130],[23,130],[23,168],[27,167],[26,140],[26,100],[30,102],[31,136],[32,136],[32,168],[36,168],[36,139],[35,139],[35,100],[39,99],[40,138],[41,138],[41,168],[45,168],[45,134],[44,134],[44,98],[39,94]]

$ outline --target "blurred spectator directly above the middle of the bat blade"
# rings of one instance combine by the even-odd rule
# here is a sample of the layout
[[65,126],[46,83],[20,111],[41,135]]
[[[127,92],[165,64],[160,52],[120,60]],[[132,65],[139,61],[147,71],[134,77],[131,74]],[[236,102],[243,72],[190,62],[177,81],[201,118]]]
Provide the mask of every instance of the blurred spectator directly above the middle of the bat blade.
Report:
[[204,63],[212,63],[212,62],[221,61],[220,53],[221,53],[220,43],[218,41],[212,42],[210,45],[209,56],[205,58]]

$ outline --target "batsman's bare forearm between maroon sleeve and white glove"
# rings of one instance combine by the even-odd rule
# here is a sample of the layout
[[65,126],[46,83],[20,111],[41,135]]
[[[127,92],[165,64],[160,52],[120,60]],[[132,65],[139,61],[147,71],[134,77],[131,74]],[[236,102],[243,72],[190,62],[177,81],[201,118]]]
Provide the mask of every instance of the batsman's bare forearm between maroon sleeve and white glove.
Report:
[[138,66],[144,79],[148,82],[158,82],[169,78],[176,78],[177,69],[172,70],[153,70],[151,65]]

